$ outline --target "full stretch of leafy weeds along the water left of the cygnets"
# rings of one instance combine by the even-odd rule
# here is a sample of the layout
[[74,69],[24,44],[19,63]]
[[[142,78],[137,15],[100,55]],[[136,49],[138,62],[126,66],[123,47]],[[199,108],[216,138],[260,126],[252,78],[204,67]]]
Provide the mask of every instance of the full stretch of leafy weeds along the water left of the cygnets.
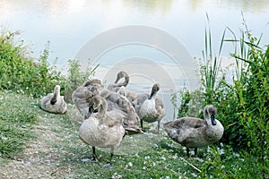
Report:
[[[81,72],[78,60],[69,59],[67,74],[48,63],[49,42],[35,61],[19,38],[19,31],[2,31],[0,36],[0,90],[13,90],[39,98],[52,92],[56,84],[62,87],[65,100],[71,102],[72,92],[91,76],[98,65],[88,65],[86,72]],[[56,63],[56,61],[55,61]]]

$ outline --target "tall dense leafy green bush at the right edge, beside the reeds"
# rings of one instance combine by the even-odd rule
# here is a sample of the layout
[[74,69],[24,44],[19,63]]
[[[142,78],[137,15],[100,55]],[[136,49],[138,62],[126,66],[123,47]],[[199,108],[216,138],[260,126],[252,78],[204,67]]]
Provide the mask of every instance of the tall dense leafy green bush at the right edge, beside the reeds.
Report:
[[[232,54],[246,67],[240,69],[240,79],[234,81],[234,89],[238,99],[239,123],[247,133],[247,147],[253,156],[259,158],[259,165],[268,169],[269,159],[269,72],[268,45],[265,50],[259,47],[246,27],[247,40],[242,38],[241,44],[247,48],[248,58]],[[253,163],[252,163],[253,164]],[[254,167],[254,166],[250,166]],[[265,169],[264,173],[265,173]]]

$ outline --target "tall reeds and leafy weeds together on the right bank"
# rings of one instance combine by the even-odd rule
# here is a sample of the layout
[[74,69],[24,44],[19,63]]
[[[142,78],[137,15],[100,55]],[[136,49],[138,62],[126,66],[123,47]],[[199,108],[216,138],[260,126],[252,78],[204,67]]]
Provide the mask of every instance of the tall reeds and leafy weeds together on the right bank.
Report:
[[[243,158],[242,162],[230,166],[229,156],[218,152],[210,154],[214,159],[204,163],[203,176],[267,178],[269,175],[269,46],[260,45],[261,38],[253,37],[244,24],[245,30],[241,31],[239,39],[229,28],[224,30],[216,56],[213,56],[211,31],[205,30],[205,49],[200,64],[202,87],[194,92],[180,92],[178,117],[189,114],[194,102],[199,101],[202,106],[213,104],[224,126],[221,142],[239,151]],[[226,38],[227,32],[233,38]],[[223,44],[234,47],[230,53],[235,64],[231,83],[220,73]],[[220,167],[222,170],[218,169]],[[222,171],[222,175],[217,174],[216,169]]]

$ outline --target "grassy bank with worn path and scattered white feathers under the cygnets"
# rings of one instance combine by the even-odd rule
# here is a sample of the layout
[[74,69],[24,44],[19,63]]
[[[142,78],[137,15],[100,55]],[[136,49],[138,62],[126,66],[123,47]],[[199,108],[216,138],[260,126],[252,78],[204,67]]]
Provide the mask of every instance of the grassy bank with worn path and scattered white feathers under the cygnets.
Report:
[[[217,168],[222,174],[232,169],[231,164],[242,161],[239,154],[221,145],[198,149],[198,158],[187,158],[185,148],[162,130],[158,135],[155,125],[148,125],[147,133],[126,136],[115,151],[113,169],[103,168],[82,162],[82,158],[91,157],[91,148],[78,137],[82,118],[73,106],[68,105],[65,115],[54,115],[39,109],[37,98],[2,91],[1,99],[1,111],[10,116],[4,115],[0,120],[4,127],[1,143],[8,146],[1,148],[0,174],[7,178],[32,173],[48,178],[194,178],[202,174],[199,170],[213,162],[217,153],[221,158],[230,156],[229,163]],[[99,162],[108,161],[109,149],[98,149],[97,153]],[[22,163],[29,166],[22,167]],[[18,166],[23,174],[18,174]]]

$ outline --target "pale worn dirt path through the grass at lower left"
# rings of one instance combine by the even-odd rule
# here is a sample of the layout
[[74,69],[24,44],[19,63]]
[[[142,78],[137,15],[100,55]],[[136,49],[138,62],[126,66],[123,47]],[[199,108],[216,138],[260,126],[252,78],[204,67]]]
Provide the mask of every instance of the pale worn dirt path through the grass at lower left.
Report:
[[[79,113],[72,106],[69,106],[66,115],[67,117],[69,115],[72,120],[80,118]],[[51,116],[55,116],[55,118]],[[39,115],[38,124],[33,129],[36,139],[30,141],[22,155],[16,156],[12,161],[7,161],[6,164],[1,164],[1,179],[72,178],[71,168],[59,165],[61,155],[57,154],[65,151],[60,151],[51,145],[58,143],[62,138],[53,130],[54,121],[59,120],[59,116]]]

